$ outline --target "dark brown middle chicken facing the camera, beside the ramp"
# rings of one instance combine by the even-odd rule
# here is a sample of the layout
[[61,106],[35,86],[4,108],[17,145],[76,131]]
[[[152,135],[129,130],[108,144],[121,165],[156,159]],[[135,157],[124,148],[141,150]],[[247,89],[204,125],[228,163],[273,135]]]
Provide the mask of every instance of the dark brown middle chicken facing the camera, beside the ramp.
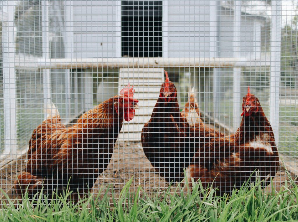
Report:
[[184,122],[176,88],[166,73],[151,118],[142,129],[141,141],[145,155],[168,182],[182,179],[181,172],[194,155],[194,148],[190,148],[184,135]]

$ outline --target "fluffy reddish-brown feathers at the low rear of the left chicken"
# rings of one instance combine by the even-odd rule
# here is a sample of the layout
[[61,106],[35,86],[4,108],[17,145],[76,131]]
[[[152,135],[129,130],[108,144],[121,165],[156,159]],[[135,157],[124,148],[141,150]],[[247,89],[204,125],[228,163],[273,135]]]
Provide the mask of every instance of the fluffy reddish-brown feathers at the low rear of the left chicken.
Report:
[[42,186],[42,178],[24,172],[16,179],[14,189],[17,195],[24,195],[27,191],[28,197],[32,199],[35,194],[41,192]]

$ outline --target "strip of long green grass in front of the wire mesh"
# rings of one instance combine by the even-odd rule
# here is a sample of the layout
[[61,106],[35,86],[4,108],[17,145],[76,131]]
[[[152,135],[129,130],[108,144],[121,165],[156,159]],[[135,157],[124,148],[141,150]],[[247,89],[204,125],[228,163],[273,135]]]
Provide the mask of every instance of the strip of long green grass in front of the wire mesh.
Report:
[[43,201],[36,195],[32,207],[25,194],[18,208],[12,201],[2,207],[0,221],[294,221],[298,187],[288,177],[279,192],[264,192],[262,182],[247,182],[230,197],[216,197],[215,189],[204,190],[200,183],[193,183],[193,192],[187,192],[186,184],[169,187],[162,195],[149,196],[141,187],[132,193],[132,179],[118,198],[102,187],[101,198],[89,194],[77,204],[69,201],[71,192],[67,192],[52,197],[49,204],[46,197]]

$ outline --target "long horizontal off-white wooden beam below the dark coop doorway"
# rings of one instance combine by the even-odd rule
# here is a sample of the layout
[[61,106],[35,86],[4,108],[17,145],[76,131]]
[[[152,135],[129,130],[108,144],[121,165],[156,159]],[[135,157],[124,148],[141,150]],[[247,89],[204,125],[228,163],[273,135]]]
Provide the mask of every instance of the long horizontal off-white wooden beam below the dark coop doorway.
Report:
[[123,58],[15,58],[18,68],[32,69],[86,69],[86,68],[138,68],[138,67],[244,67],[270,66],[270,58],[229,57],[123,57]]

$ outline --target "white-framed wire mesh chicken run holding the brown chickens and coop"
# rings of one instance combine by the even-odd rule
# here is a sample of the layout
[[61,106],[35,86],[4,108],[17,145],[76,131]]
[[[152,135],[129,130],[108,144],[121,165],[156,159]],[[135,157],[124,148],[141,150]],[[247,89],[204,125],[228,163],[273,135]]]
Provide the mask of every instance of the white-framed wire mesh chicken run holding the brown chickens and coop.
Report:
[[0,1],[1,189],[279,190],[298,176],[297,7]]

